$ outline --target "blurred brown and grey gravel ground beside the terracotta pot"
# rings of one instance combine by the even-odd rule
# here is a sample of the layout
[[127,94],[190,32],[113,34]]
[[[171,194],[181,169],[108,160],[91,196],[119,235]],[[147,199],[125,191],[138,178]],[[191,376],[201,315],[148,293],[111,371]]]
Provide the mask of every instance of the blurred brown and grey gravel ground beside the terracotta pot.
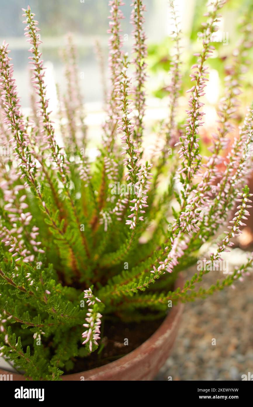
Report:
[[[234,253],[233,253],[234,252]],[[240,263],[240,249],[228,254],[229,265]],[[192,276],[196,270],[187,273]],[[220,271],[205,275],[208,287]],[[242,380],[253,374],[253,274],[236,289],[227,287],[205,300],[185,304],[184,315],[171,356],[154,380]],[[212,345],[216,339],[216,345]],[[214,341],[213,341],[214,343]]]

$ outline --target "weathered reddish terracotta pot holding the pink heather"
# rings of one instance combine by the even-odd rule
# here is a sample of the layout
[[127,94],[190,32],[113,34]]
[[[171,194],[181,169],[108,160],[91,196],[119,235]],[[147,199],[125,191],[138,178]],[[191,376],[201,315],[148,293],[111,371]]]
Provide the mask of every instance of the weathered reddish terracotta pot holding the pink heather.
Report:
[[[183,279],[179,277],[175,288],[182,287]],[[115,362],[86,372],[65,374],[63,380],[101,380],[101,381],[142,381],[152,380],[166,361],[175,341],[184,304],[173,306],[158,330],[141,346]],[[8,374],[0,370],[0,374]],[[13,381],[24,381],[21,374],[13,373]]]

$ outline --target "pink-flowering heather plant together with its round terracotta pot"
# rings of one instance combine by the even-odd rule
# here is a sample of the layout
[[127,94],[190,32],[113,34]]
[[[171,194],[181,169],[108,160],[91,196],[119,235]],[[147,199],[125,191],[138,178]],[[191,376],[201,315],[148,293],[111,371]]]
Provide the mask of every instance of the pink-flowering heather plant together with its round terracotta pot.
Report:
[[[129,57],[121,49],[123,3],[109,2],[111,89],[103,142],[94,162],[87,157],[89,140],[71,39],[64,53],[66,94],[58,88],[64,147],[56,142],[48,112],[38,22],[30,7],[23,10],[36,90],[30,117],[21,111],[8,45],[0,47],[0,137],[6,152],[0,176],[0,357],[17,370],[15,380],[150,380],[169,354],[182,303],[234,286],[251,269],[249,256],[216,285],[198,288],[204,274],[219,269],[251,208],[246,182],[252,165],[247,154],[253,138],[252,107],[225,170],[219,170],[247,47],[234,53],[212,154],[202,158],[198,135],[206,60],[214,49],[210,35],[217,30],[225,2],[214,0],[205,14],[203,26],[210,35],[203,36],[202,49],[195,54],[182,132],[176,120],[181,32],[169,1],[175,27],[169,115],[159,132],[164,142],[159,157],[147,162],[143,3],[132,4],[134,49]],[[244,32],[244,45],[250,33]],[[166,182],[163,193],[158,188],[161,179]],[[221,225],[227,231],[217,238]],[[209,254],[205,267],[197,266],[201,248],[214,240],[217,250]],[[179,273],[193,265],[198,272],[183,284]]]

